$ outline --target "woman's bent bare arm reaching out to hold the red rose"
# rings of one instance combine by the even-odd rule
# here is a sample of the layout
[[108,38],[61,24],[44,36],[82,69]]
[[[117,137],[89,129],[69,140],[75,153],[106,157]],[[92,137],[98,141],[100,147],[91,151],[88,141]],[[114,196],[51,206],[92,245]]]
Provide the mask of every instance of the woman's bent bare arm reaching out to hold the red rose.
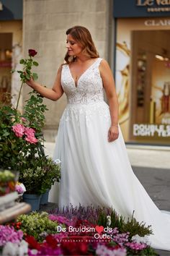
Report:
[[35,82],[33,79],[27,80],[27,85],[29,85],[32,89],[36,90],[40,95],[45,98],[49,98],[52,101],[57,101],[63,95],[63,88],[61,87],[61,69],[58,69],[57,76],[55,78],[55,82],[53,88],[45,88],[39,83]]

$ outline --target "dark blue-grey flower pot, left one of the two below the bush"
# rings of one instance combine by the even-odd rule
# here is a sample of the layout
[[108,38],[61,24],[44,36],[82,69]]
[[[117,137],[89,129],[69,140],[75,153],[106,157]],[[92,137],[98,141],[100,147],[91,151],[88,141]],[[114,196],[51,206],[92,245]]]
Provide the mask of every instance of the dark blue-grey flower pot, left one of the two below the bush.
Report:
[[24,193],[24,195],[22,197],[23,197],[24,202],[27,202],[31,205],[32,210],[39,210],[40,209],[41,195]]

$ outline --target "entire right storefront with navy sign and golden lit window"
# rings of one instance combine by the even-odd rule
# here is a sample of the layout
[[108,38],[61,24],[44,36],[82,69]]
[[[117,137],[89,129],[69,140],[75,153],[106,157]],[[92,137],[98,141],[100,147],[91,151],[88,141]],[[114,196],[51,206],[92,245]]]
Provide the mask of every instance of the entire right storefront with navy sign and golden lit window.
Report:
[[113,15],[125,142],[170,145],[170,1],[115,0]]

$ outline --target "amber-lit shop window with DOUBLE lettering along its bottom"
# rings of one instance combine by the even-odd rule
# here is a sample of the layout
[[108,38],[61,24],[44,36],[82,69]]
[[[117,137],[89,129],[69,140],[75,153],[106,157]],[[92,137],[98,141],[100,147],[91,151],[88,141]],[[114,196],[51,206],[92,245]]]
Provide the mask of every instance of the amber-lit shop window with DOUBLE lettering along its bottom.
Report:
[[130,141],[169,143],[170,32],[132,32]]

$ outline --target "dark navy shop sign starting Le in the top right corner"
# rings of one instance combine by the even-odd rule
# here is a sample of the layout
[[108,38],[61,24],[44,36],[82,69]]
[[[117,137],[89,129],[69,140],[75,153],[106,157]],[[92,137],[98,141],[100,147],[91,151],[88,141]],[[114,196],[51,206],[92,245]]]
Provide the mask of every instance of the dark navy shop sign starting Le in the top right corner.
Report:
[[113,16],[169,17],[170,0],[114,0]]

